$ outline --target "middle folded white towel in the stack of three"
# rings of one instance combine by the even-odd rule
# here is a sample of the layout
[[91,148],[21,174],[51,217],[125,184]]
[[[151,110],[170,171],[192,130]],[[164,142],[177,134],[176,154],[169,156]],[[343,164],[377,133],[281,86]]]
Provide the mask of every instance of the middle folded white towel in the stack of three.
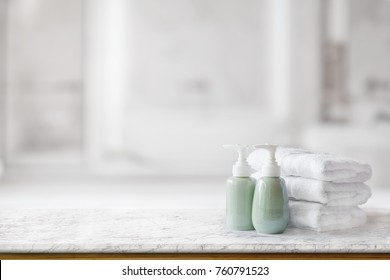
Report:
[[[260,172],[252,177],[258,179]],[[371,197],[371,189],[364,183],[333,183],[303,177],[286,176],[288,197],[292,200],[318,202],[328,206],[357,206]]]

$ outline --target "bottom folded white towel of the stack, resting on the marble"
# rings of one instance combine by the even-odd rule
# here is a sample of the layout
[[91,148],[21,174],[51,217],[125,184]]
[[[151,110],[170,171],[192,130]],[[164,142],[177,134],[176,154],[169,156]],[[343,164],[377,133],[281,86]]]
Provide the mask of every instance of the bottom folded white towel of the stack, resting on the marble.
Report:
[[290,201],[290,226],[314,231],[331,231],[359,227],[367,220],[357,206],[324,206],[320,203]]

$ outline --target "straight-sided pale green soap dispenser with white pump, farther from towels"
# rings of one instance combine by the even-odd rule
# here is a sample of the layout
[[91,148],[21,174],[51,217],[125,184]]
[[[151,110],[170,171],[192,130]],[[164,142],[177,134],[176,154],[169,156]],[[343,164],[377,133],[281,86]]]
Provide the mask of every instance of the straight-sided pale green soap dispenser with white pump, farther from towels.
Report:
[[256,180],[250,177],[252,168],[246,160],[252,148],[245,145],[224,145],[224,148],[238,152],[233,176],[226,182],[226,225],[232,230],[253,230],[252,202]]

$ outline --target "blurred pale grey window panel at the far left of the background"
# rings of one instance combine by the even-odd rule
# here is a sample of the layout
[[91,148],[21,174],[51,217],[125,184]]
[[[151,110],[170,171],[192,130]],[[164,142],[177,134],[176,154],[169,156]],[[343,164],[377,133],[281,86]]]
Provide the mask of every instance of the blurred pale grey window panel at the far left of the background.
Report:
[[7,164],[79,162],[82,1],[6,1]]

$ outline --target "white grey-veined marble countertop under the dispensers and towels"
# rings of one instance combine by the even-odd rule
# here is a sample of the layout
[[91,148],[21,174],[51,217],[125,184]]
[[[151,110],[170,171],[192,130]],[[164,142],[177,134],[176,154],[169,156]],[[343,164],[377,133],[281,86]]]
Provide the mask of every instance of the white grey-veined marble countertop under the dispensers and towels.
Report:
[[390,252],[390,210],[366,225],[318,233],[234,232],[223,210],[2,209],[2,253]]

